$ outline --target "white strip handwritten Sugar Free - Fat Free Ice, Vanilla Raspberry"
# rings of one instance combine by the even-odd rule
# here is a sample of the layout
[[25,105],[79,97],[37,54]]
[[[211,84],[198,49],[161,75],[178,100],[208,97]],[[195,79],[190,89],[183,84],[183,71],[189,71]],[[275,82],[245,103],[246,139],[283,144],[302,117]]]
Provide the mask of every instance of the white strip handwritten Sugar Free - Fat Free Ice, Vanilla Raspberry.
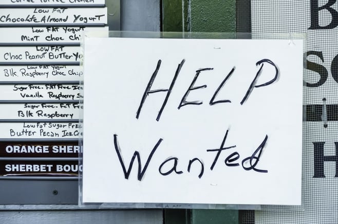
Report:
[[0,100],[80,100],[80,88],[76,84],[1,85]]

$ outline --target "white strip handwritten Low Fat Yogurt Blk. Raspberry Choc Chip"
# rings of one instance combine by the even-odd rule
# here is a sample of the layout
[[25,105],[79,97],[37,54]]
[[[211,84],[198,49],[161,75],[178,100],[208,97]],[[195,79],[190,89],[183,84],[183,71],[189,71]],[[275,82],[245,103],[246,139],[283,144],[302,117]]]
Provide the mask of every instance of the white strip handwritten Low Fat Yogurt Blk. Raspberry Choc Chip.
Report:
[[0,81],[79,81],[82,75],[80,66],[0,66]]

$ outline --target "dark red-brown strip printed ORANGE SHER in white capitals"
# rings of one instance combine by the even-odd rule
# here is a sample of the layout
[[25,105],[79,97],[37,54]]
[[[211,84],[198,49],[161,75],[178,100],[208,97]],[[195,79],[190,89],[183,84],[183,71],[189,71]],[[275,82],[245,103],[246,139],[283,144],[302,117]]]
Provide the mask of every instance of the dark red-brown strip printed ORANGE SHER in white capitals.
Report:
[[0,141],[0,157],[77,158],[82,153],[79,141]]

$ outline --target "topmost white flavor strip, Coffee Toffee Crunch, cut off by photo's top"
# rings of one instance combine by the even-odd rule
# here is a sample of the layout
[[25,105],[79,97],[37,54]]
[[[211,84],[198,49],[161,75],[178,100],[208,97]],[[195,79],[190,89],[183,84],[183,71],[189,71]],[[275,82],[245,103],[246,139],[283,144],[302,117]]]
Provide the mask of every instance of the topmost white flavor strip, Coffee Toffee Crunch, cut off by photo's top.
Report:
[[1,0],[0,5],[104,5],[104,0]]

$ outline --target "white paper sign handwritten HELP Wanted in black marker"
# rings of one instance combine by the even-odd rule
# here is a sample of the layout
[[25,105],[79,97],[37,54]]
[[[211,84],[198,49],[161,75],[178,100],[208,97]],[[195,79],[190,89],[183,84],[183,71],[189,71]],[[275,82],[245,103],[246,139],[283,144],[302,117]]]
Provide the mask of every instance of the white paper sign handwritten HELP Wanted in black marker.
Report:
[[289,42],[86,38],[83,203],[300,205]]

